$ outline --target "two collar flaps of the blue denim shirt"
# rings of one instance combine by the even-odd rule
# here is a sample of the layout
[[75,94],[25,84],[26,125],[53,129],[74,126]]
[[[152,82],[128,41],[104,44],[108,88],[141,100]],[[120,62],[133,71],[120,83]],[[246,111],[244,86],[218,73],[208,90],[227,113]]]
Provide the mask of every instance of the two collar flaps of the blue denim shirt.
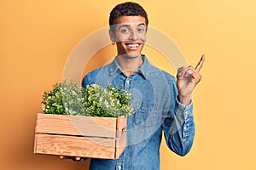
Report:
[[[138,70],[136,72],[140,73],[143,75],[143,77],[145,79],[148,78],[148,75],[150,74],[150,71],[151,71],[151,66],[148,62],[148,59],[146,58],[146,56],[144,54],[141,54],[142,58],[143,58],[143,65],[141,65],[140,68],[138,68]],[[109,74],[110,75],[113,75],[114,73],[119,73],[119,72],[123,72],[119,63],[118,63],[118,60],[117,60],[117,57],[115,57],[115,59],[113,60],[113,62],[110,64],[110,67],[109,67]]]

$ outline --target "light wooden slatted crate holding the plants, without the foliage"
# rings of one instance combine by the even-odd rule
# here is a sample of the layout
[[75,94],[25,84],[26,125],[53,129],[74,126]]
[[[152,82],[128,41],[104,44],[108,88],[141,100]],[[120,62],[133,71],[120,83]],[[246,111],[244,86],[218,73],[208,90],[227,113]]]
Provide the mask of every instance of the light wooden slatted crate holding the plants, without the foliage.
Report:
[[126,117],[38,113],[34,153],[117,159],[125,150]]

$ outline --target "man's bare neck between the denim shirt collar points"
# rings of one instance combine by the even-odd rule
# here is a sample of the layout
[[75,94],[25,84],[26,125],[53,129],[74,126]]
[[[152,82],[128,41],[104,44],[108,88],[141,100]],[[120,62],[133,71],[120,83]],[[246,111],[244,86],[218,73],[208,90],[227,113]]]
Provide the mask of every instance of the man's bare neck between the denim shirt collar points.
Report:
[[119,55],[117,59],[121,69],[128,77],[131,76],[135,71],[137,71],[137,69],[140,68],[141,65],[143,65],[143,58],[141,55],[137,57]]

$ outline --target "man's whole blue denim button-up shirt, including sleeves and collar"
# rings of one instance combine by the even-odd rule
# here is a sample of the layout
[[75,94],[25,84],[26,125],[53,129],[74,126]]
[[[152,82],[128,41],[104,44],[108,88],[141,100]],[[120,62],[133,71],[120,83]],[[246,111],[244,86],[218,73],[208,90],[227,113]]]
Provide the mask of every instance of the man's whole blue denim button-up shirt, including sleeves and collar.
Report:
[[124,152],[117,160],[91,159],[90,170],[160,169],[162,132],[166,144],[179,156],[185,156],[193,144],[195,123],[192,101],[185,106],[177,100],[176,79],[166,71],[150,65],[142,55],[143,65],[130,77],[120,68],[117,58],[91,71],[82,86],[107,82],[122,85],[131,93],[135,114],[127,117]]

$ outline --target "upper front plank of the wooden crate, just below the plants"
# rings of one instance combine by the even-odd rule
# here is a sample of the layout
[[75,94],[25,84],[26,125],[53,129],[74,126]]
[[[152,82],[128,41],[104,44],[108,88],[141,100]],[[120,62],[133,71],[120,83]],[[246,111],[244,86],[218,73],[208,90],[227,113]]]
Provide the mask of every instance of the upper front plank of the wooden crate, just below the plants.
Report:
[[[117,123],[117,120],[121,123]],[[57,133],[114,138],[117,125],[126,126],[125,118],[64,116],[38,113],[36,133]]]

